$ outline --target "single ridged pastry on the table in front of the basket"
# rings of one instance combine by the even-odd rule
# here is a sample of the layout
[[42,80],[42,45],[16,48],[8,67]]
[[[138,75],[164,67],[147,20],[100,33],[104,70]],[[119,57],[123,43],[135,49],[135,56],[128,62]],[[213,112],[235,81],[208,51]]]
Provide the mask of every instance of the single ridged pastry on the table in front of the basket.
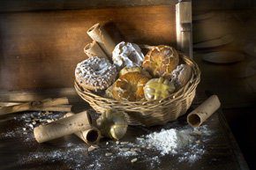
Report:
[[111,109],[104,112],[97,119],[96,123],[103,136],[117,140],[124,137],[128,127],[124,113]]

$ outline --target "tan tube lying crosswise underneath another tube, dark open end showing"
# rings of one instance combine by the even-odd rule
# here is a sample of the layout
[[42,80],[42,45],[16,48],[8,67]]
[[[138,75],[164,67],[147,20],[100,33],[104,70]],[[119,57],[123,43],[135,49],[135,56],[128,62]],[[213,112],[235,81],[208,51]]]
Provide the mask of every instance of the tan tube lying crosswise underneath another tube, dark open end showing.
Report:
[[[73,113],[67,113],[64,115],[64,117],[70,117],[74,115]],[[75,133],[76,136],[78,136],[80,139],[85,141],[87,144],[95,144],[97,143],[101,138],[101,132],[99,129],[96,129],[94,127],[90,129],[86,129],[84,131],[78,131]]]

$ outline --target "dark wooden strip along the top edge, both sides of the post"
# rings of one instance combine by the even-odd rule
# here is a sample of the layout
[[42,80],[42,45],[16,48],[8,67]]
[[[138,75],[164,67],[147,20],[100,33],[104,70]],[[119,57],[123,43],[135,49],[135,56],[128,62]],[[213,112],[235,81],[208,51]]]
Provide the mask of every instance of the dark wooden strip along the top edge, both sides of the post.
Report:
[[[184,1],[184,0],[183,0]],[[0,2],[0,12],[11,11],[42,11],[42,10],[78,10],[91,8],[109,8],[109,7],[131,7],[147,5],[168,5],[177,4],[177,0],[2,0]],[[241,10],[252,9],[256,7],[254,0],[195,0],[192,1],[193,9],[197,11],[209,10]]]

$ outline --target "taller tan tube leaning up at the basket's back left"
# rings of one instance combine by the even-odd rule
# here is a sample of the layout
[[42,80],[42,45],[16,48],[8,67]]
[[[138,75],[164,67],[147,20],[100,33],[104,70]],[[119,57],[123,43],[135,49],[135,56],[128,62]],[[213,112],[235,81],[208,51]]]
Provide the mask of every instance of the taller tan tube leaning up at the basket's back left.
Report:
[[116,43],[111,39],[109,33],[107,33],[99,23],[92,26],[87,34],[96,42],[99,43],[103,51],[108,55],[109,58],[112,58],[112,51],[116,47]]

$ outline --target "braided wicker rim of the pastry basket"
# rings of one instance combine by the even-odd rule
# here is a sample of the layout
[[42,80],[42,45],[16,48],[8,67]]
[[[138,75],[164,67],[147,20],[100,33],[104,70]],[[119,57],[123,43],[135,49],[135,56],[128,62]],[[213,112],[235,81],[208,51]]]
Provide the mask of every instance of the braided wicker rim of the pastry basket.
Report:
[[[153,47],[153,46],[145,45],[144,47],[148,48],[148,47]],[[162,105],[162,103],[165,103],[165,102],[174,102],[174,101],[180,100],[180,99],[184,98],[184,96],[187,96],[188,94],[192,93],[193,90],[200,83],[200,68],[199,68],[198,64],[195,63],[192,59],[189,59],[182,52],[178,51],[178,54],[180,55],[180,57],[183,58],[184,63],[189,64],[192,67],[192,76],[189,79],[189,81],[181,89],[179,89],[177,92],[174,92],[174,93],[170,94],[168,97],[161,99],[161,100],[121,101],[121,100],[106,98],[106,97],[98,95],[94,92],[91,92],[90,90],[80,87],[79,84],[77,83],[76,79],[74,81],[74,87],[75,87],[75,90],[78,92],[79,96],[83,100],[85,100],[85,99],[83,98],[82,95],[87,95],[87,96],[89,95],[92,98],[94,98],[94,100],[108,100],[109,102],[117,103],[117,104],[121,104],[121,105],[128,105],[128,106],[130,106],[130,105],[134,105],[134,106],[153,105],[154,107],[156,107],[157,105]]]

